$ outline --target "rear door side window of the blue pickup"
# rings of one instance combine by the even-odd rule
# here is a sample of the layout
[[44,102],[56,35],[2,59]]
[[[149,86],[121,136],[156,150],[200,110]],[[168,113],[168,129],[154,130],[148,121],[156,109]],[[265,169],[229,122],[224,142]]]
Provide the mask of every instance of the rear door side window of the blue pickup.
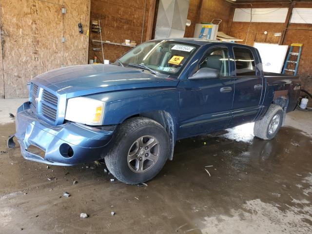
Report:
[[250,49],[234,47],[236,76],[255,76],[254,56]]

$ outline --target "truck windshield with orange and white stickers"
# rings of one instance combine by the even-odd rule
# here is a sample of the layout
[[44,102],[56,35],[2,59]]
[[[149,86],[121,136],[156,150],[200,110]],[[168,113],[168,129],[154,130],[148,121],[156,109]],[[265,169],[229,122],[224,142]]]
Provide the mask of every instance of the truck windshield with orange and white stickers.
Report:
[[153,40],[138,45],[118,59],[118,62],[124,66],[152,69],[158,73],[177,77],[198,47],[172,40]]

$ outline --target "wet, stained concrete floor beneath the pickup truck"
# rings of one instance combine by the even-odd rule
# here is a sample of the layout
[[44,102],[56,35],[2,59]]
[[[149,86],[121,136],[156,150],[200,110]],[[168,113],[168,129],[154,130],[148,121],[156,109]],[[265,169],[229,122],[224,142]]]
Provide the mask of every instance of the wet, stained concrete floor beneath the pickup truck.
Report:
[[253,124],[181,140],[148,187],[110,182],[104,165],[24,160],[19,147],[6,148],[14,133],[7,114],[0,112],[9,122],[0,125],[0,234],[312,233],[312,113],[290,113],[271,141],[254,138]]

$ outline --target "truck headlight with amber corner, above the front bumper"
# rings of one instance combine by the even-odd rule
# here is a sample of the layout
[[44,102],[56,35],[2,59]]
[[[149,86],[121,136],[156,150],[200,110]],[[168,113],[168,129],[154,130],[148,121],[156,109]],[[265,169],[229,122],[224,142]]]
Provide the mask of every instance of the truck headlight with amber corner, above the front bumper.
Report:
[[105,102],[91,98],[70,98],[67,101],[65,119],[87,125],[102,125]]

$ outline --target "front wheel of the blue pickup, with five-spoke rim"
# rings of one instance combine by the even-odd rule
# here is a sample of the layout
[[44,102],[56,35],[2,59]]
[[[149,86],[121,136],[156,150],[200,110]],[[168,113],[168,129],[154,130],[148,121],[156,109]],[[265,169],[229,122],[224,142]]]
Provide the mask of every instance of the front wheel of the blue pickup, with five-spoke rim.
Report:
[[152,179],[168,158],[168,134],[150,118],[133,117],[125,120],[118,127],[114,138],[114,145],[105,157],[105,163],[113,176],[126,184]]

